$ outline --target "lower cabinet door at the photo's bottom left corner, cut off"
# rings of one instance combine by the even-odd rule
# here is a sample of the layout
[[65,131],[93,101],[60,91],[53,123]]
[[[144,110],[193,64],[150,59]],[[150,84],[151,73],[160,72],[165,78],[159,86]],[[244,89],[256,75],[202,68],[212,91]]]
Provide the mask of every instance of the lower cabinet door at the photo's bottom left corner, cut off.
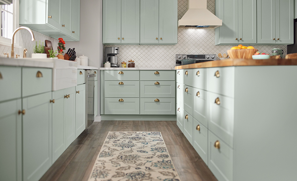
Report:
[[0,104],[0,179],[22,180],[21,99]]

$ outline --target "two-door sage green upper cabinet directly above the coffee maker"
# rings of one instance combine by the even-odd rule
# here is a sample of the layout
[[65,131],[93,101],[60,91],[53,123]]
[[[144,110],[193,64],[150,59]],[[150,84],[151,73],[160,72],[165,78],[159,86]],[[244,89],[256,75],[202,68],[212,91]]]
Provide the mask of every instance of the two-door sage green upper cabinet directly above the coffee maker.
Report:
[[103,0],[103,44],[139,44],[139,0]]

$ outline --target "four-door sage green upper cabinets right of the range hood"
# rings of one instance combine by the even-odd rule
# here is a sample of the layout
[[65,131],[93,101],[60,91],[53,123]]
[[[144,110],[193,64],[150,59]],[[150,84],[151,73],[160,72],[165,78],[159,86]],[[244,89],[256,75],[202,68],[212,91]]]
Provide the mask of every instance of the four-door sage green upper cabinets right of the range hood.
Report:
[[293,0],[216,0],[215,45],[293,44]]

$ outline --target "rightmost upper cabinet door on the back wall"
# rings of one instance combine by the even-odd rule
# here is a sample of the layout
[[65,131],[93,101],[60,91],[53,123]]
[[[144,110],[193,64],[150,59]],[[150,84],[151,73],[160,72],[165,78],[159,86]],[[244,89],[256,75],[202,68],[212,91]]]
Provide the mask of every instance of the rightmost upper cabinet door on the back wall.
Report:
[[276,43],[293,44],[294,43],[294,1],[276,0]]

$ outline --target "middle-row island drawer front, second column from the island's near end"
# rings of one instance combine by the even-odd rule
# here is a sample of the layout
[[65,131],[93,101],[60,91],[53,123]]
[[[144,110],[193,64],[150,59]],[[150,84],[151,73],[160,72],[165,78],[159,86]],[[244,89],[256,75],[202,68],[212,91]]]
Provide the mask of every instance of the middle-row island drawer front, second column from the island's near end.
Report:
[[207,124],[207,91],[193,88],[193,117],[204,126]]

